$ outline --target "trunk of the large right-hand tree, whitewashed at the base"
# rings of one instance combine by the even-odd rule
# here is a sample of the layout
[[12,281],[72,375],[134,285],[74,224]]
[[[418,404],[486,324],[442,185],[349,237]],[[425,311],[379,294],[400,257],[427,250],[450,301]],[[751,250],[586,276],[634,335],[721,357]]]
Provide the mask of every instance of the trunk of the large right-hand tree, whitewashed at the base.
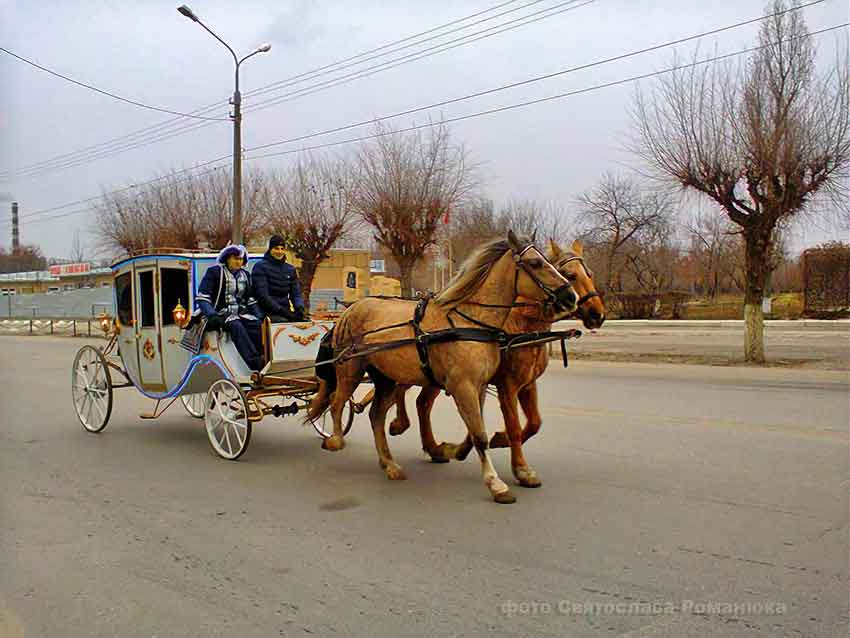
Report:
[[747,282],[744,292],[744,361],[764,363],[764,299],[765,284],[770,271],[770,242],[773,228],[752,228],[744,233],[746,239]]

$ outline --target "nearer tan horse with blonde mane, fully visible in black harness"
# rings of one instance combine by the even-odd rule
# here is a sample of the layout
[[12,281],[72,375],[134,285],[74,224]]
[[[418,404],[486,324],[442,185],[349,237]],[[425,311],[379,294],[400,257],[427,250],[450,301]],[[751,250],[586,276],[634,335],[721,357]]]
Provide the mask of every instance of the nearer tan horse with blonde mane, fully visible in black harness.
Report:
[[[406,478],[390,453],[384,423],[396,384],[432,384],[411,337],[450,328],[498,331],[520,296],[533,301],[549,300],[570,311],[578,299],[567,279],[533,244],[520,242],[509,232],[507,240],[488,242],[467,259],[449,286],[427,306],[419,330],[411,322],[415,301],[367,297],[353,304],[334,328],[334,375],[321,380],[307,413],[307,418],[316,419],[330,408],[334,433],[323,441],[322,447],[343,447],[343,408],[364,372],[368,372],[375,385],[369,419],[378,462],[387,478]],[[485,331],[480,330],[482,327]],[[398,346],[393,341],[405,344]],[[381,344],[387,347],[382,348]],[[430,376],[452,396],[466,424],[481,460],[484,484],[497,503],[513,503],[516,499],[487,454],[488,438],[481,413],[487,382],[499,366],[499,344],[491,340],[434,343],[428,346],[428,357]]]

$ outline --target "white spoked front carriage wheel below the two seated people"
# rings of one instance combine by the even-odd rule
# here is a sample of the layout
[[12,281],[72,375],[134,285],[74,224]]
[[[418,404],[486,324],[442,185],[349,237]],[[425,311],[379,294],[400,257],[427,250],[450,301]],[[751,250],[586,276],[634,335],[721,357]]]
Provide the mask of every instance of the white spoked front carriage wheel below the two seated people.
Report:
[[220,457],[235,461],[248,449],[251,440],[248,403],[233,381],[219,379],[210,386],[204,422],[210,445]]

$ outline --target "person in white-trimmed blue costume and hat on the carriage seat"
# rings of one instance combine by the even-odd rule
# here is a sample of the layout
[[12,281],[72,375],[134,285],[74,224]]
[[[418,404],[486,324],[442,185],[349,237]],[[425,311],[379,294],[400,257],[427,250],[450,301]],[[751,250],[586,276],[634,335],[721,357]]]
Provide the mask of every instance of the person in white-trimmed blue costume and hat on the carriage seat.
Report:
[[251,296],[251,275],[244,246],[227,246],[218,254],[218,264],[204,273],[195,296],[195,315],[207,319],[207,330],[230,334],[242,359],[252,370],[263,367],[261,311]]

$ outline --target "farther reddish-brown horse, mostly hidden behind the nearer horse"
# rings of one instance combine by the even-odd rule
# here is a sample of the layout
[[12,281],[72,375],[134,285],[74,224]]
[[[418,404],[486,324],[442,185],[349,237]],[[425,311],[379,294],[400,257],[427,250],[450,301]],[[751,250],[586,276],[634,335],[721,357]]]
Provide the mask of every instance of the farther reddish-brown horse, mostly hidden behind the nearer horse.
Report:
[[[588,329],[596,329],[605,321],[605,307],[593,285],[593,273],[584,263],[583,247],[578,240],[573,242],[569,251],[563,251],[553,241],[549,242],[546,257],[558,271],[566,277],[576,294],[579,295],[575,315],[582,319]],[[552,323],[565,318],[570,313],[555,313],[543,304],[517,306],[511,310],[504,330],[511,333],[543,332],[550,330]],[[537,378],[546,370],[549,356],[545,345],[527,346],[510,350],[502,355],[499,369],[491,383],[499,393],[499,405],[505,420],[505,430],[496,432],[490,439],[490,447],[511,448],[511,469],[519,485],[539,487],[541,481],[537,472],[528,465],[523,455],[522,445],[540,429],[542,420],[537,407]],[[410,427],[410,420],[404,405],[406,388],[396,391],[397,416],[390,424],[390,434],[398,435]],[[463,460],[469,454],[471,441],[467,436],[460,445],[443,443],[438,445],[431,430],[431,408],[440,394],[440,388],[423,388],[416,398],[416,412],[419,416],[419,433],[422,449],[437,463],[445,463],[450,458]],[[517,414],[517,399],[525,414],[525,427],[520,429]]]

